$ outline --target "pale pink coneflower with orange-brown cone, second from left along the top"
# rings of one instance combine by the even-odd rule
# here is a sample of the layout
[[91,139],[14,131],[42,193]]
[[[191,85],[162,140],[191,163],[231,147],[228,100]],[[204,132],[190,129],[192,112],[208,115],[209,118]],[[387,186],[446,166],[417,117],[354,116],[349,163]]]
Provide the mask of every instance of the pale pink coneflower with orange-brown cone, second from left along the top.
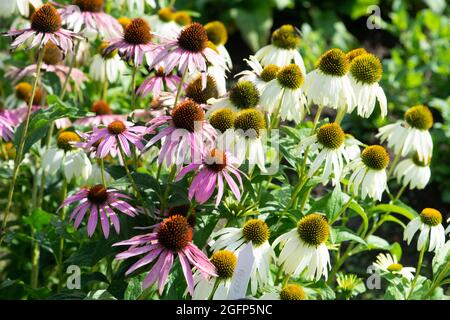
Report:
[[144,19],[136,18],[126,26],[122,38],[110,41],[103,54],[108,55],[117,49],[122,59],[126,62],[133,61],[134,66],[141,65],[144,56],[147,63],[151,64],[161,51],[152,42],[152,38],[148,23]]

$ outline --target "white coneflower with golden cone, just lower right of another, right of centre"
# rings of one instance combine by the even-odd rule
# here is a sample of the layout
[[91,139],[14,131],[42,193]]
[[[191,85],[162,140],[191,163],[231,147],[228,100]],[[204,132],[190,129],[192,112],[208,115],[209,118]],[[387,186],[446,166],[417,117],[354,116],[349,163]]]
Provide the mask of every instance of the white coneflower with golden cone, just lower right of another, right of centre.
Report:
[[379,145],[368,146],[361,156],[353,160],[348,169],[353,171],[348,180],[348,186],[353,187],[353,194],[361,199],[367,196],[381,201],[387,188],[386,167],[389,164],[389,154]]

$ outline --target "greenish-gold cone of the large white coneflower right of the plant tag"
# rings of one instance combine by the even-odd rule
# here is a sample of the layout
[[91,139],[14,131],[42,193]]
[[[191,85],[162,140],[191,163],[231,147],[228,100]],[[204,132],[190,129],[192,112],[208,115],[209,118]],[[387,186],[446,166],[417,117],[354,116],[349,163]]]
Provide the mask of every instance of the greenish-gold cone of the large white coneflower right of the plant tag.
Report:
[[327,241],[330,235],[330,226],[323,215],[312,213],[298,222],[297,233],[303,242],[317,247]]

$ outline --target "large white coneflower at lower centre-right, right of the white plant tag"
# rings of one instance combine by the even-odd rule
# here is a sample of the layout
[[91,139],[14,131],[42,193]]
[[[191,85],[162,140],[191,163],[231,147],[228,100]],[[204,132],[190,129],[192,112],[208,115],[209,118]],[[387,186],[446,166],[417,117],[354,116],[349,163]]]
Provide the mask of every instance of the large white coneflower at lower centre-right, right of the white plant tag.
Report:
[[330,254],[325,244],[330,235],[330,226],[326,218],[319,213],[304,216],[297,228],[282,234],[272,244],[281,244],[278,264],[283,266],[284,273],[298,277],[306,270],[306,278],[327,279],[330,265]]

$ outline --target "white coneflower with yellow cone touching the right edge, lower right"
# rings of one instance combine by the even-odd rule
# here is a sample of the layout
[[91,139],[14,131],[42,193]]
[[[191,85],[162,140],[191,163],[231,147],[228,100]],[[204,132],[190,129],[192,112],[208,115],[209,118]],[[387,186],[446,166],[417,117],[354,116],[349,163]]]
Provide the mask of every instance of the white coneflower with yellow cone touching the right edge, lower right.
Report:
[[420,231],[417,250],[422,250],[428,244],[428,251],[436,251],[445,243],[445,230],[441,223],[442,214],[438,210],[425,208],[418,217],[408,223],[403,240],[408,241],[409,245],[416,232]]

